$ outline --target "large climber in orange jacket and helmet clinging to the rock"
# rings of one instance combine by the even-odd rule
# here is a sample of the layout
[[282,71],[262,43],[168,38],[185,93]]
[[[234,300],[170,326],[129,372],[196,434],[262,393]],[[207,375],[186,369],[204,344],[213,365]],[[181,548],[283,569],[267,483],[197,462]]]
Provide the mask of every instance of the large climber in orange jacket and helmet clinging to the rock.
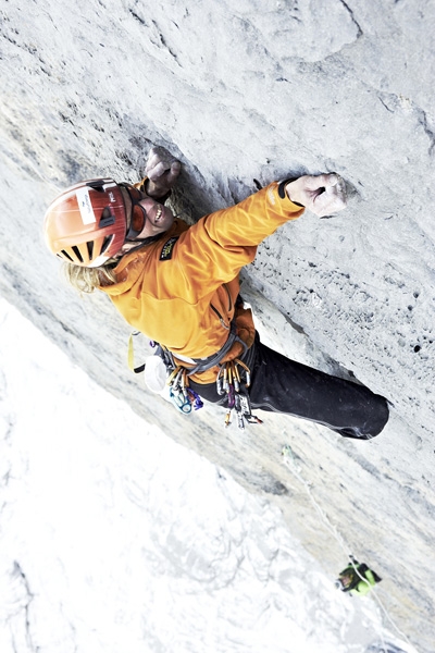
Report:
[[306,209],[319,217],[346,207],[337,174],[273,182],[192,226],[164,204],[181,163],[151,149],[135,185],[95,178],[67,188],[48,208],[48,247],[71,283],[107,293],[137,331],[157,344],[174,402],[226,407],[226,423],[260,422],[253,409],[311,420],[368,440],[388,420],[384,397],[263,345],[239,296],[239,272],[258,245]]

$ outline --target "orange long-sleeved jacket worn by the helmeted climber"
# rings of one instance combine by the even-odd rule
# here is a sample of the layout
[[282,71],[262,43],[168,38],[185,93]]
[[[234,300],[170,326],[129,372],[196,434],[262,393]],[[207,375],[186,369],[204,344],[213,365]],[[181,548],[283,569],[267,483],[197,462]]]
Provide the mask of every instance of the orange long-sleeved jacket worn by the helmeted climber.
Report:
[[[257,246],[303,212],[274,182],[240,204],[201,218],[192,226],[176,219],[162,237],[122,258],[117,283],[101,287],[126,321],[176,357],[206,358],[228,337],[239,292],[238,274]],[[250,310],[236,310],[237,333],[248,346]],[[235,343],[225,359],[238,356]],[[188,366],[187,366],[188,367]],[[192,379],[212,382],[217,368]]]

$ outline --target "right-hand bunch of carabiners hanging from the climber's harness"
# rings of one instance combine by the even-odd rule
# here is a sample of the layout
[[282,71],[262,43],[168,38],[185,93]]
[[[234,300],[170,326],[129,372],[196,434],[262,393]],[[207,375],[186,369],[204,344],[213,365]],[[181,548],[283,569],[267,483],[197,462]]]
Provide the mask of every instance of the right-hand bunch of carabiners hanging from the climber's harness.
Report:
[[[241,379],[241,374],[245,380]],[[216,378],[217,394],[227,396],[228,408],[225,416],[225,428],[232,423],[233,411],[236,414],[237,426],[245,429],[245,422],[248,424],[262,424],[262,420],[252,415],[251,403],[249,399],[248,387],[251,382],[251,372],[245,362],[239,358],[229,360],[220,366]]]

